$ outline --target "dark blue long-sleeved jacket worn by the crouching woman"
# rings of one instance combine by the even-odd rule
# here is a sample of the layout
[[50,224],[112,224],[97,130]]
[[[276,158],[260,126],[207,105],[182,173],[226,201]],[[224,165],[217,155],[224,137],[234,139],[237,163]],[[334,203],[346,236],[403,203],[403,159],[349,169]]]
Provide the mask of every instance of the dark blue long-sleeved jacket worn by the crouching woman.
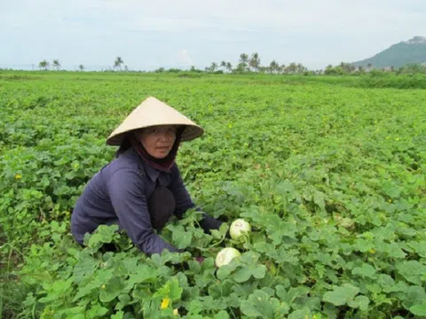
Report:
[[[91,178],[83,194],[78,198],[71,216],[71,231],[75,240],[83,244],[84,235],[95,230],[99,224],[117,223],[126,230],[139,250],[146,253],[162,253],[167,248],[177,248],[165,242],[155,232],[147,207],[147,198],[156,187],[167,187],[176,202],[174,214],[181,217],[189,208],[200,208],[193,204],[176,164],[170,173],[151,167],[140,159],[132,148]],[[218,229],[221,222],[204,214],[201,227],[208,231]]]

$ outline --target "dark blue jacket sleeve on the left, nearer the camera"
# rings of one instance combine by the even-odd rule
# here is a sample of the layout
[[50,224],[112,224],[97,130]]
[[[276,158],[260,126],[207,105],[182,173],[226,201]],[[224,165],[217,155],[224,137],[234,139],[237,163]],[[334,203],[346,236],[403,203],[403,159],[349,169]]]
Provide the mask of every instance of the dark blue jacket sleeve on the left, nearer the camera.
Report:
[[106,184],[118,221],[134,245],[148,255],[179,250],[155,234],[146,205],[143,179],[137,171],[122,168]]

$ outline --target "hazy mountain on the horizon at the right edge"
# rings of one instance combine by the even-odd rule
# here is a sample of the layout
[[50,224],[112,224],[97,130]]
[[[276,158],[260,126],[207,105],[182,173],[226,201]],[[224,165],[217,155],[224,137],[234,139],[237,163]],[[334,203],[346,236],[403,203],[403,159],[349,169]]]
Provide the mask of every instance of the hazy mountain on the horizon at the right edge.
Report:
[[368,66],[368,64],[380,68],[407,64],[426,65],[426,38],[414,36],[411,40],[393,44],[374,57],[351,63],[353,66]]

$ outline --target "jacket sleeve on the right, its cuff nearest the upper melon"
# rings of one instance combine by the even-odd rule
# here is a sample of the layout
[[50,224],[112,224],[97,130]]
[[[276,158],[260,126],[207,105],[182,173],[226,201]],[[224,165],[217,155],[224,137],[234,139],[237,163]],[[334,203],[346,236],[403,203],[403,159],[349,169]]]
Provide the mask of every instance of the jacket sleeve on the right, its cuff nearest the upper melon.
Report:
[[[170,183],[170,191],[175,198],[176,206],[174,214],[177,216],[177,218],[182,218],[183,214],[185,214],[185,211],[190,208],[195,208],[195,210],[198,212],[202,212],[201,208],[193,203],[191,196],[185,188],[185,184],[176,164],[172,168],[171,178],[172,181]],[[204,218],[200,221],[200,225],[204,231],[209,232],[209,230],[219,229],[222,222],[204,212],[203,215]]]

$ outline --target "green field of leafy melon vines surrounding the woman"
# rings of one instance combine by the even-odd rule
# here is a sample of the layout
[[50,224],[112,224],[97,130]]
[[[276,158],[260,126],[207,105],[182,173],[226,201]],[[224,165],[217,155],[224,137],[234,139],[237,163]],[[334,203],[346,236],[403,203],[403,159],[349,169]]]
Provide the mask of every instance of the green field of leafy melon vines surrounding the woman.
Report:
[[[426,317],[426,90],[361,81],[0,73],[0,317]],[[114,226],[83,248],[71,209],[150,96],[205,128],[177,165],[225,226],[171,220],[185,253],[146,256]],[[251,232],[225,236],[237,218]],[[241,256],[217,268],[225,247]]]

